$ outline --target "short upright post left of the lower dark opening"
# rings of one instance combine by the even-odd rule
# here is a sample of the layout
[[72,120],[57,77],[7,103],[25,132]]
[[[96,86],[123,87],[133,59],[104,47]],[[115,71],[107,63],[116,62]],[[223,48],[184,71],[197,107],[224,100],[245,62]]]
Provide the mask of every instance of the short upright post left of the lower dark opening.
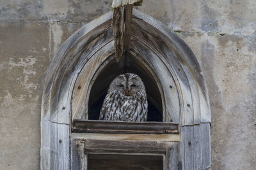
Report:
[[71,140],[71,169],[87,170],[88,155],[84,154],[84,140]]

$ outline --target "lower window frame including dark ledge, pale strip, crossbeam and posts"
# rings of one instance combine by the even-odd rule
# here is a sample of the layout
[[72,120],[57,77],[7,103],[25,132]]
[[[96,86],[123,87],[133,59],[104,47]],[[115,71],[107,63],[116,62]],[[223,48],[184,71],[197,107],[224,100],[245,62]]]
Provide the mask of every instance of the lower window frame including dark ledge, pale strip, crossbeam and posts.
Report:
[[164,170],[179,169],[179,124],[74,120],[73,127],[71,169],[87,169],[88,154],[159,155]]

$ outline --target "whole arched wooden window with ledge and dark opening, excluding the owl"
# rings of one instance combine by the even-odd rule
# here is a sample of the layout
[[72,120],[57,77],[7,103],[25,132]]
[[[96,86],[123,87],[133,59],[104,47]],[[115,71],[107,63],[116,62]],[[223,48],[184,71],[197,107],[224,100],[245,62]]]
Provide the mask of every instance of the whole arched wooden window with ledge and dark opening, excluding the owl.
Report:
[[[52,60],[42,100],[41,169],[86,169],[95,154],[104,160],[114,153],[148,155],[164,169],[208,169],[211,113],[195,55],[159,21],[134,10],[131,48],[116,63],[111,18],[109,12],[81,27]],[[109,83],[124,72],[145,83],[148,122],[97,120]]]

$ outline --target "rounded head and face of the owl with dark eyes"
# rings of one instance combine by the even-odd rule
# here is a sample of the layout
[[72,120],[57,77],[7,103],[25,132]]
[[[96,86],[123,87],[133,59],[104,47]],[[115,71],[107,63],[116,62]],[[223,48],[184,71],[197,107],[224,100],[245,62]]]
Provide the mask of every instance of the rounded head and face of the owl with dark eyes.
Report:
[[145,87],[138,75],[125,73],[117,76],[109,85],[108,92],[114,91],[118,91],[127,97],[136,97],[138,94],[145,94]]

